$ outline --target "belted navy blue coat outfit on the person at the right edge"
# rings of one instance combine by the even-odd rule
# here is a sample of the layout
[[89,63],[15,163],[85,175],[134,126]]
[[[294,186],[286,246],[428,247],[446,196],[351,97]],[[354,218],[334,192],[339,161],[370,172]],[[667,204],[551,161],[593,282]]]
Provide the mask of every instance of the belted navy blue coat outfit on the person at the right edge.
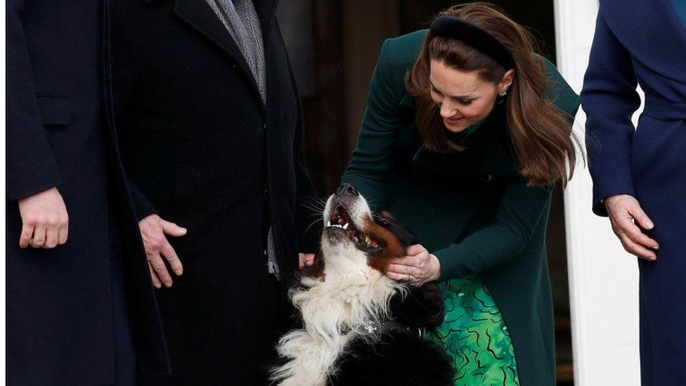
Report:
[[[634,195],[655,224],[656,262],[639,260],[643,385],[686,382],[686,26],[670,0],[601,0],[581,93],[593,210]],[[638,129],[630,117],[645,91]]]

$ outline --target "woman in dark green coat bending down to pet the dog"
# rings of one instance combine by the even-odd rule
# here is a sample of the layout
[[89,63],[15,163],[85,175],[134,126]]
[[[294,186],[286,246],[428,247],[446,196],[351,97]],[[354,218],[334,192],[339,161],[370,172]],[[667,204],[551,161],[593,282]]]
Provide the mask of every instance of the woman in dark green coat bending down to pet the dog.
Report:
[[388,275],[439,282],[455,385],[555,384],[545,231],[579,99],[530,42],[486,3],[385,41],[343,177],[417,234]]

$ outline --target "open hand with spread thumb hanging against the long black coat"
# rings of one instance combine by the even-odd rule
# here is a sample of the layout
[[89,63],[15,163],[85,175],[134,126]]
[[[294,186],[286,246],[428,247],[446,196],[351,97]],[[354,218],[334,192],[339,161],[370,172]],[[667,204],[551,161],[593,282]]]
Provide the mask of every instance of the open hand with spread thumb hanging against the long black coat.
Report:
[[150,266],[150,277],[153,278],[153,285],[155,285],[155,288],[161,288],[162,283],[164,283],[165,287],[171,287],[171,275],[167,271],[167,266],[164,265],[164,259],[167,259],[169,266],[171,266],[171,269],[174,270],[174,274],[177,276],[183,274],[183,265],[164,235],[183,236],[186,234],[186,229],[160,219],[160,216],[157,216],[157,214],[150,214],[150,216],[138,221],[138,227],[141,229],[141,236],[143,236],[145,255],[148,255],[148,265]]

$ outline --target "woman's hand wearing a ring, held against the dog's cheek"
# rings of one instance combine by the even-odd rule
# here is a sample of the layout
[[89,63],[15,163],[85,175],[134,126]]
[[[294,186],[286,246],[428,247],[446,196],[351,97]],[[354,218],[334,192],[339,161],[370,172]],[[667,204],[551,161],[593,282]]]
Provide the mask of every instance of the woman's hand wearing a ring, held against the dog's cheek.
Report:
[[401,259],[391,260],[387,274],[389,278],[420,286],[441,276],[439,259],[430,254],[422,245],[411,245],[408,247],[407,254]]

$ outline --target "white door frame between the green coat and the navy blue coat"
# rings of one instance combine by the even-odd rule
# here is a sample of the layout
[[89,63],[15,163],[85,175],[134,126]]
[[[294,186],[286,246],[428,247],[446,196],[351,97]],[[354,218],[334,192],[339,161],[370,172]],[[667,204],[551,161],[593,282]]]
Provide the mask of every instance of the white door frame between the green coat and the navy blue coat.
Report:
[[[557,65],[578,93],[597,0],[554,1]],[[582,136],[583,124],[580,109],[576,130]],[[609,220],[591,212],[590,174],[578,167],[564,192],[575,384],[640,385],[638,265],[611,232]]]

